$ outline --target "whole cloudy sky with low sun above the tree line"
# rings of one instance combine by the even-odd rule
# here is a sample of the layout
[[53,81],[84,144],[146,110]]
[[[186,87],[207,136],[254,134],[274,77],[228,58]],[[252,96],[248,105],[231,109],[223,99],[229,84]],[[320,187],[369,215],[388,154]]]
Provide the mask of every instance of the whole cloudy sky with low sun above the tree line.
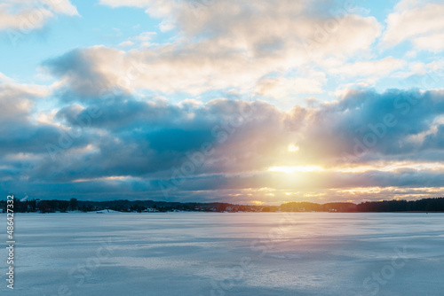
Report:
[[0,194],[444,192],[444,1],[5,0]]

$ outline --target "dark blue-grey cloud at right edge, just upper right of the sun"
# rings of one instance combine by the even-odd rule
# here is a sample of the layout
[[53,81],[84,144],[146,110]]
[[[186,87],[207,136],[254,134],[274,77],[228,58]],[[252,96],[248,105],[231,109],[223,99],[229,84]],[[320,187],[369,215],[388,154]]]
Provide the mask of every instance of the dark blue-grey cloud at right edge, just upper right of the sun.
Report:
[[[305,114],[297,108],[294,113]],[[305,125],[303,142],[319,155],[365,160],[369,154],[406,160],[428,152],[440,135],[423,136],[444,113],[440,91],[355,90],[344,99],[321,105]],[[306,118],[306,117],[305,117]],[[433,138],[433,140],[432,140]],[[419,154],[421,155],[421,154]],[[350,161],[350,160],[349,160]]]

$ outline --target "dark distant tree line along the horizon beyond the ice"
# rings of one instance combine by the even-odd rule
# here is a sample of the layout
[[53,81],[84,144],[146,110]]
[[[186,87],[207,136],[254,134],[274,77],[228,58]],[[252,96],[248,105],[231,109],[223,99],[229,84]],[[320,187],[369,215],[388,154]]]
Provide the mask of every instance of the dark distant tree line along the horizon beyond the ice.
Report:
[[[6,212],[6,200],[0,200],[0,209]],[[70,200],[14,200],[14,213],[66,213],[67,211],[101,211],[114,210],[118,212],[144,212],[150,209],[155,212],[444,212],[444,198],[419,200],[383,200],[366,201],[361,204],[336,202],[317,204],[312,202],[289,202],[281,206],[246,206],[228,203],[181,203],[154,200],[108,200],[83,201]]]

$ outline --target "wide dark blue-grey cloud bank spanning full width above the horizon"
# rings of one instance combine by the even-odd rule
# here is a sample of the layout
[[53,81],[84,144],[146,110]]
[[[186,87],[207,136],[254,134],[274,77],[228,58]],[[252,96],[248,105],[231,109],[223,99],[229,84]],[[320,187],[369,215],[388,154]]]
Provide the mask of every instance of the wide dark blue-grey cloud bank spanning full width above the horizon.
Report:
[[[121,95],[62,101],[55,115],[58,125],[32,120],[36,97],[21,96],[17,104],[7,105],[14,97],[20,96],[4,91],[0,97],[7,110],[0,129],[4,192],[47,198],[165,199],[161,184],[167,183],[170,199],[233,201],[235,191],[249,188],[433,188],[444,181],[441,171],[433,169],[267,172],[272,166],[440,161],[440,91],[355,90],[337,102],[296,106],[289,113],[259,101],[218,98],[206,104],[172,105],[155,97]],[[58,148],[53,155],[48,144]],[[297,144],[300,151],[289,153],[289,144]],[[212,192],[211,197],[202,191]]]

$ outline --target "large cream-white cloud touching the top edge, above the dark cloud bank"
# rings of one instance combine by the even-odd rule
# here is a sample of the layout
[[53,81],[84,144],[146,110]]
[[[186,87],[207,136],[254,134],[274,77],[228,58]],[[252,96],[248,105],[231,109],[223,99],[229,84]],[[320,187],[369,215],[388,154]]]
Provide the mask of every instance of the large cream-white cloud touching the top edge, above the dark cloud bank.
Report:
[[[369,51],[381,33],[373,17],[359,15],[357,7],[308,1],[266,0],[211,1],[190,4],[187,1],[103,0],[112,7],[136,6],[151,17],[173,27],[177,38],[171,43],[149,44],[130,52],[109,55],[104,48],[84,49],[88,64],[100,68],[103,79],[129,91],[151,90],[162,93],[186,92],[200,95],[210,90],[270,90],[281,96],[296,86],[296,93],[319,92],[319,82],[306,77],[294,81],[266,80],[267,76],[286,76],[295,69],[320,64],[323,58],[340,60]],[[152,33],[139,35],[149,40]],[[134,40],[131,40],[134,42]],[[99,61],[108,55],[113,60]],[[174,69],[174,70],[171,70]],[[137,72],[131,82],[116,82],[128,72]],[[125,84],[126,86],[123,86]],[[285,84],[285,85],[283,85]],[[313,90],[307,90],[308,86]]]

